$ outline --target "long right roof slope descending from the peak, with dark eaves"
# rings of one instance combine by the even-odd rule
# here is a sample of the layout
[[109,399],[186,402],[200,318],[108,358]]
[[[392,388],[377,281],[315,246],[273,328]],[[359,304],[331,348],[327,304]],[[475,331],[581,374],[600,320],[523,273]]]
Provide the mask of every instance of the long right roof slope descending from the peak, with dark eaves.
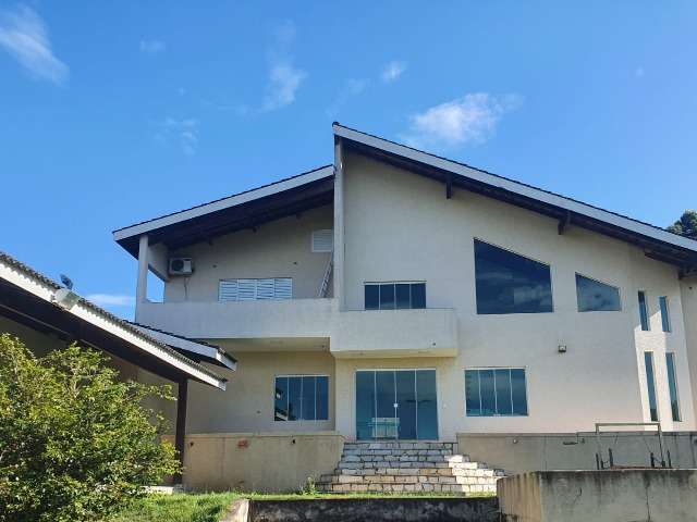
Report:
[[559,194],[502,177],[354,128],[333,124],[334,136],[350,150],[559,220],[560,233],[576,225],[645,249],[647,256],[683,269],[697,264],[697,241]]

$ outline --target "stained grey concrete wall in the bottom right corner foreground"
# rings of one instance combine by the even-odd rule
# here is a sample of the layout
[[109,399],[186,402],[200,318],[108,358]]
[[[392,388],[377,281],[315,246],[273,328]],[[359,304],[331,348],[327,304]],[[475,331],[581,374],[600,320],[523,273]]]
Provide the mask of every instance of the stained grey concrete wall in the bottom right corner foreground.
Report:
[[508,522],[688,522],[697,470],[543,471],[498,483]]

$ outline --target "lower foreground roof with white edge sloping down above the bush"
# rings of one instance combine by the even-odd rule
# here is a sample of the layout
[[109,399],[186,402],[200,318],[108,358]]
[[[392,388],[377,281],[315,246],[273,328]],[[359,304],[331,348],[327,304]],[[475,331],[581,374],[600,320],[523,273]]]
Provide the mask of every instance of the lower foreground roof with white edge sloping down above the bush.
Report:
[[193,378],[225,389],[225,378],[85,298],[72,308],[59,307],[61,289],[0,251],[0,315],[102,349],[166,378]]

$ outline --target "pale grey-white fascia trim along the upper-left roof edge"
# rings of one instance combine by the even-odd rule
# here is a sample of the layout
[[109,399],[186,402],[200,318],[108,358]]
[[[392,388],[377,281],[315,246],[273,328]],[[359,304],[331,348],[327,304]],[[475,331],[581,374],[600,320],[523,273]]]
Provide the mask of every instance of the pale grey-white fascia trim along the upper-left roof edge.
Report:
[[229,198],[220,199],[211,203],[201,204],[200,207],[196,207],[194,209],[183,210],[174,214],[164,215],[162,217],[148,221],[147,223],[140,223],[138,225],[132,225],[125,228],[121,228],[113,233],[113,239],[115,241],[120,241],[121,239],[125,239],[127,237],[138,236],[140,234],[145,234],[150,231],[161,228],[163,226],[181,223],[183,221],[192,220],[194,217],[199,217],[201,215],[209,214],[211,212],[229,209],[237,204],[246,203],[248,201],[254,201],[255,199],[264,198],[266,196],[272,196],[274,194],[289,190],[291,188],[296,188],[302,185],[306,185],[308,183],[332,176],[333,174],[334,174],[333,165],[323,166],[316,171],[308,172],[307,174],[301,174],[299,176],[295,176],[284,182],[279,182],[273,185],[268,185],[261,188],[255,188],[253,190],[249,190],[244,194],[240,194],[237,196],[230,196]]

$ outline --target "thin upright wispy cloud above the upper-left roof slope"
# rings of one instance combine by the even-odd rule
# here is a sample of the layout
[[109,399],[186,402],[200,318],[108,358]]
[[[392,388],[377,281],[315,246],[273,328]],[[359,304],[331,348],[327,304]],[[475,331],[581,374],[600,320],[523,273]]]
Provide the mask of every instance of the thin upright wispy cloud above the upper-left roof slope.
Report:
[[264,110],[273,111],[290,105],[307,73],[293,64],[290,47],[296,35],[295,24],[288,21],[273,32],[273,45],[269,49],[269,77],[264,100]]

